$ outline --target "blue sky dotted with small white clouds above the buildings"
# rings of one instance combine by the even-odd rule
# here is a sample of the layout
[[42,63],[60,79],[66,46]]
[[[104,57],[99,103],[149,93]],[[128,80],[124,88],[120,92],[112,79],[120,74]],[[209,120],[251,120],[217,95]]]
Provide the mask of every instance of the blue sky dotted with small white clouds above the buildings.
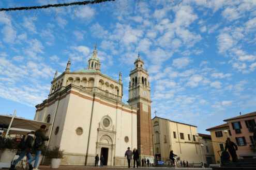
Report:
[[[1,8],[73,1],[1,1]],[[77,2],[77,1],[76,1]],[[101,72],[128,100],[140,52],[149,72],[152,117],[223,124],[256,106],[256,1],[123,0],[88,6],[0,12],[0,114],[34,118],[58,70],[83,69],[97,42]]]

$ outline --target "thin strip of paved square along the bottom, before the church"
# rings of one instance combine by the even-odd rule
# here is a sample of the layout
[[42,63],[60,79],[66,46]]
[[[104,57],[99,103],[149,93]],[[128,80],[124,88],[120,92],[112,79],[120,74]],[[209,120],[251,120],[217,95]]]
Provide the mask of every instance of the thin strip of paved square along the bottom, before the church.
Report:
[[[22,168],[21,168],[22,169]],[[52,170],[50,166],[39,166],[40,170]],[[59,166],[58,169],[66,169],[66,170],[98,170],[98,169],[137,169],[137,168],[127,168],[127,167],[116,167],[116,166],[103,166],[103,167],[95,167],[95,166]],[[202,170],[203,168],[167,168],[167,167],[139,167],[138,169],[182,169],[182,170]],[[204,168],[204,170],[212,170],[212,168]]]

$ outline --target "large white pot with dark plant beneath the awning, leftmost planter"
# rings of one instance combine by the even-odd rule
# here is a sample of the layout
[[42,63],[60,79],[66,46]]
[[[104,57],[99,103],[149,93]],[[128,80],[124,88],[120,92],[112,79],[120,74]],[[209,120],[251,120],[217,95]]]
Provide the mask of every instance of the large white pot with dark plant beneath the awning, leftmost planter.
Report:
[[18,149],[18,141],[14,138],[0,137],[0,162],[11,163]]

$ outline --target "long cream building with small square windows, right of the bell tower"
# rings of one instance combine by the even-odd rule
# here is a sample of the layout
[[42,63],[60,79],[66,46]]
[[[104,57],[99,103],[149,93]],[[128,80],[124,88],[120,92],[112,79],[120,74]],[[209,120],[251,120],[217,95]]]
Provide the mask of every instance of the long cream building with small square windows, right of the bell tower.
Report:
[[198,133],[197,126],[160,117],[153,118],[152,126],[155,157],[158,156],[165,162],[169,159],[170,151],[173,150],[180,160],[189,163],[202,162],[199,140],[195,136]]

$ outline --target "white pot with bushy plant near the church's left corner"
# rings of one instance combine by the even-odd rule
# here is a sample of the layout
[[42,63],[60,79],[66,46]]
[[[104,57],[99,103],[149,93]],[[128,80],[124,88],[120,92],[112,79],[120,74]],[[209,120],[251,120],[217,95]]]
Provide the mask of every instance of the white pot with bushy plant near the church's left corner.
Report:
[[46,151],[46,156],[51,159],[51,168],[58,168],[61,164],[61,159],[64,158],[64,150],[59,149],[59,146],[54,148],[48,148]]

